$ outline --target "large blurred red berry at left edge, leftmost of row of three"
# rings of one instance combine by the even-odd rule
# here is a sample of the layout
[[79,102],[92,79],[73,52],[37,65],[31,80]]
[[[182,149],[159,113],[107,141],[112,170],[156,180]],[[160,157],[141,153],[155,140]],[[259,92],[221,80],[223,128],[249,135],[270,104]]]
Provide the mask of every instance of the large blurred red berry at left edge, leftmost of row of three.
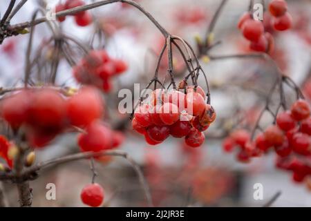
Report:
[[21,124],[26,122],[31,97],[32,93],[30,91],[21,90],[21,92],[5,97],[2,100],[2,116],[12,128],[19,128]]

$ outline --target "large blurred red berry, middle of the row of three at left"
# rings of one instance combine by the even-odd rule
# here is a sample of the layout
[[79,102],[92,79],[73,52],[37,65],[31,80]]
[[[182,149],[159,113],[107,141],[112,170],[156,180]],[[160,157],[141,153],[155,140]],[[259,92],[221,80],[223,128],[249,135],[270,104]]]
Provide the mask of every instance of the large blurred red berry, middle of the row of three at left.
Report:
[[33,94],[28,123],[41,128],[62,128],[66,119],[66,102],[56,90],[42,89]]

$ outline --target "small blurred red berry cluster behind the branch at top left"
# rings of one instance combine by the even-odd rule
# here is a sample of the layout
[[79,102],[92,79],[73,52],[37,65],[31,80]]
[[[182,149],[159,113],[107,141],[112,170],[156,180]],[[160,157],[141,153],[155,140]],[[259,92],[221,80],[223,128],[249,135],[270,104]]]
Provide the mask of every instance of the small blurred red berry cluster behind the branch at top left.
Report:
[[[64,4],[59,3],[55,8],[55,12],[61,12],[63,10],[84,5],[85,3],[82,0],[67,0]],[[88,26],[90,23],[92,23],[93,20],[91,14],[87,11],[77,12],[73,16],[75,17],[75,23],[77,23],[78,26],[82,27]],[[63,22],[66,20],[66,16],[57,17],[57,20]]]

